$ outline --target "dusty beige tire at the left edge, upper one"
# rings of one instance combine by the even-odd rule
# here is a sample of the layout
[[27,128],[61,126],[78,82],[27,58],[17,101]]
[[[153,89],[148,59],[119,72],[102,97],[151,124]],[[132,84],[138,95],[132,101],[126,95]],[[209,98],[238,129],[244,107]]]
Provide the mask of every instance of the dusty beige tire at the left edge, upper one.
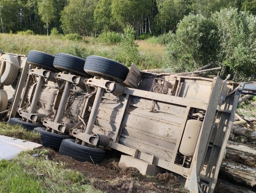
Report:
[[[17,57],[9,55],[9,54],[4,54],[0,57],[1,59],[5,59],[6,61],[11,61],[6,62],[4,66],[4,73],[0,78],[0,84],[9,86],[11,85],[17,78],[18,73],[19,73],[19,61]],[[13,64],[14,63],[14,64]]]

